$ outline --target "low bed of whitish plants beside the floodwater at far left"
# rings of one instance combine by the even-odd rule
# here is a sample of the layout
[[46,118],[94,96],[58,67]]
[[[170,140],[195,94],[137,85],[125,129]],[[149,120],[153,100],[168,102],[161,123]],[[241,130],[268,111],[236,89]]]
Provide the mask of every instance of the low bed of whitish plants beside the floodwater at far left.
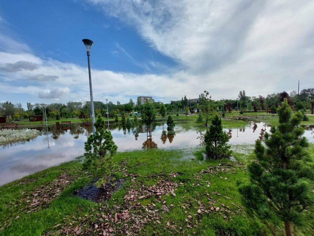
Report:
[[36,138],[40,132],[35,129],[22,129],[22,130],[11,130],[3,129],[0,130],[0,145],[20,142]]

